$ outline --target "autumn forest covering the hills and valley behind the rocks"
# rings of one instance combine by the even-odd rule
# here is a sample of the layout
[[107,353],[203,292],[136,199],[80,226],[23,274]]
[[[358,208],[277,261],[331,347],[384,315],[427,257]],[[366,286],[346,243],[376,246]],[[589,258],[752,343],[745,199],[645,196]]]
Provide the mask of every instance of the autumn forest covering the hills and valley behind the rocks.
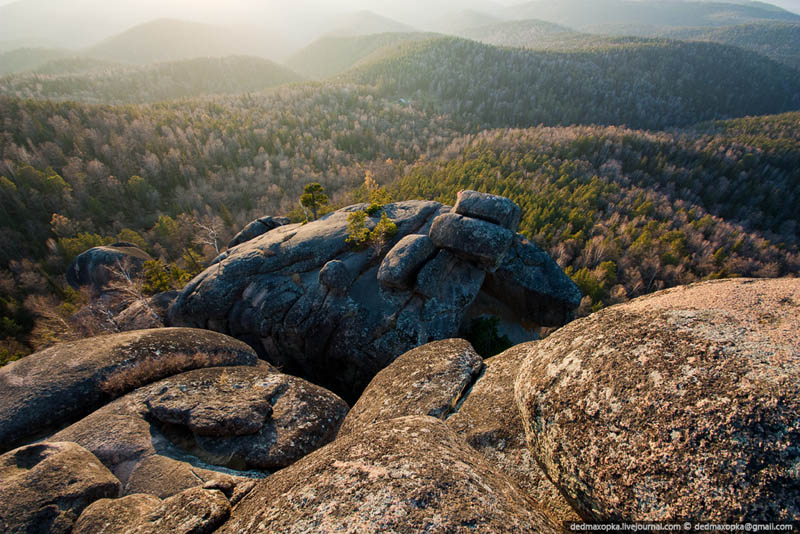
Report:
[[345,32],[283,65],[0,55],[15,72],[0,77],[0,365],[98,333],[82,323],[92,295],[65,283],[81,252],[133,243],[155,258],[143,291],[180,289],[250,221],[306,220],[312,183],[326,210],[365,183],[393,200],[509,197],[583,290],[578,315],[800,272],[794,19],[683,41],[458,20],[476,40]]

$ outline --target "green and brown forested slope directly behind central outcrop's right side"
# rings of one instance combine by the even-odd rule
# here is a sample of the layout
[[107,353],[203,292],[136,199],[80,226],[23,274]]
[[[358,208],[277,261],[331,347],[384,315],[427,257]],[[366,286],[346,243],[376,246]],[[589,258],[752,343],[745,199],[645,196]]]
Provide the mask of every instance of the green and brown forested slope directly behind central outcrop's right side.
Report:
[[798,126],[792,113],[706,133],[487,131],[414,166],[393,192],[452,203],[476,188],[513,199],[521,231],[590,297],[585,313],[697,280],[796,274]]

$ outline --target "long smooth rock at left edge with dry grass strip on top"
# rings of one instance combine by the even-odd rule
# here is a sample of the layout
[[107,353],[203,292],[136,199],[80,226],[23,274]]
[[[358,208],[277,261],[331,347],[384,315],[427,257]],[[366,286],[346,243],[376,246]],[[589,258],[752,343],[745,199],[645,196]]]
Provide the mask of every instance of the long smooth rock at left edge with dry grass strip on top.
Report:
[[0,451],[63,428],[128,391],[175,373],[257,361],[241,341],[187,328],[56,345],[0,368]]

